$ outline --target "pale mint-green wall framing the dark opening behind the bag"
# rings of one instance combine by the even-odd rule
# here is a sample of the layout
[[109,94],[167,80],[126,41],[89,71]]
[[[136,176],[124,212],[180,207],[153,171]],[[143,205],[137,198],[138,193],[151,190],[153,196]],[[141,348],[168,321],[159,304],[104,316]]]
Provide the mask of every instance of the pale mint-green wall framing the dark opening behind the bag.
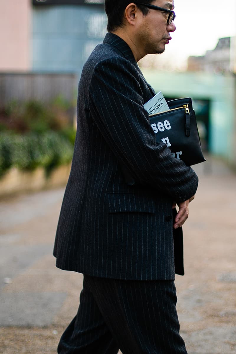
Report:
[[236,165],[236,76],[142,70],[155,91],[167,97],[209,99],[209,151]]

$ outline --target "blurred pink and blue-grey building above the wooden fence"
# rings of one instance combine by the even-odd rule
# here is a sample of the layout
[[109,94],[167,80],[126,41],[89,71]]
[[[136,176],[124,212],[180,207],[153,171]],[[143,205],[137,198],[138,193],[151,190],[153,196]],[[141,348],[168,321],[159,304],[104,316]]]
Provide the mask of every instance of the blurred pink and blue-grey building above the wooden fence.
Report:
[[0,0],[1,71],[81,73],[106,33],[103,0]]

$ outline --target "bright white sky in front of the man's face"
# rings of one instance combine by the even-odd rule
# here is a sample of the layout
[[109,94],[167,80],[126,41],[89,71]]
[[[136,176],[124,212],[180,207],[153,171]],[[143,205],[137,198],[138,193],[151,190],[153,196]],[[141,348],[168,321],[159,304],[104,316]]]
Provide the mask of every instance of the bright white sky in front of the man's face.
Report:
[[[204,55],[218,39],[236,36],[236,0],[174,0],[176,31],[161,61],[182,66],[190,55]],[[158,59],[158,60],[160,60]]]

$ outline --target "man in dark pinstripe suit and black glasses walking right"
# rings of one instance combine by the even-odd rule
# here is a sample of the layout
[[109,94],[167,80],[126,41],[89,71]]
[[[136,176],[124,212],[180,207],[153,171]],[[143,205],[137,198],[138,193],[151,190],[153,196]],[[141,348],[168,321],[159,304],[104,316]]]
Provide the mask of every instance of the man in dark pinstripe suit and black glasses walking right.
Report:
[[58,353],[186,354],[174,273],[184,273],[181,226],[198,178],[155,142],[143,107],[155,92],[137,65],[171,40],[173,1],[106,0],[105,10],[108,33],[79,83],[54,246],[57,267],[84,274]]

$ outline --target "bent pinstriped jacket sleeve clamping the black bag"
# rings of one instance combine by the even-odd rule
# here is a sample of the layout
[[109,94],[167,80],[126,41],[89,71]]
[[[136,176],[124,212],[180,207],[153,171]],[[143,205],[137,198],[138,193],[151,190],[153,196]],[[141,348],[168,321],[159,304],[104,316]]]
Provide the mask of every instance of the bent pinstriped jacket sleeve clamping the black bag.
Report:
[[137,183],[150,185],[173,200],[187,200],[196,192],[197,175],[173,158],[165,143],[156,143],[143,107],[140,79],[135,66],[124,58],[97,64],[88,92],[92,117]]

